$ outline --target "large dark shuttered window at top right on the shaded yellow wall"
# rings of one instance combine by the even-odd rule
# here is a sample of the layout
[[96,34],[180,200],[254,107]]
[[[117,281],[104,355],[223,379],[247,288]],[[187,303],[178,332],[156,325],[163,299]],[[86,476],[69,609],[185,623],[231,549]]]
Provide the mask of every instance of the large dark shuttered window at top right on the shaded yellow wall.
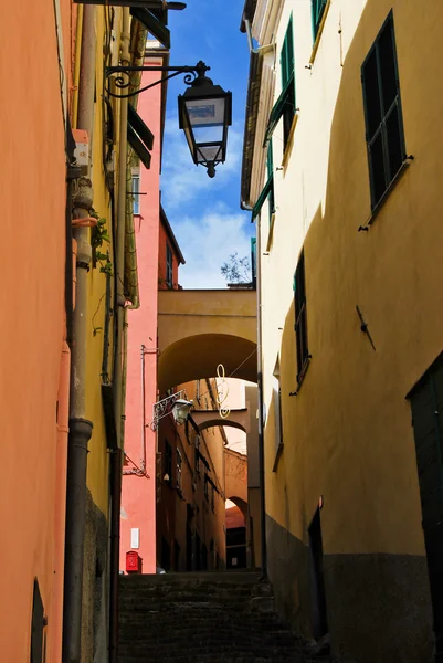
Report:
[[405,158],[392,12],[361,67],[372,209]]

